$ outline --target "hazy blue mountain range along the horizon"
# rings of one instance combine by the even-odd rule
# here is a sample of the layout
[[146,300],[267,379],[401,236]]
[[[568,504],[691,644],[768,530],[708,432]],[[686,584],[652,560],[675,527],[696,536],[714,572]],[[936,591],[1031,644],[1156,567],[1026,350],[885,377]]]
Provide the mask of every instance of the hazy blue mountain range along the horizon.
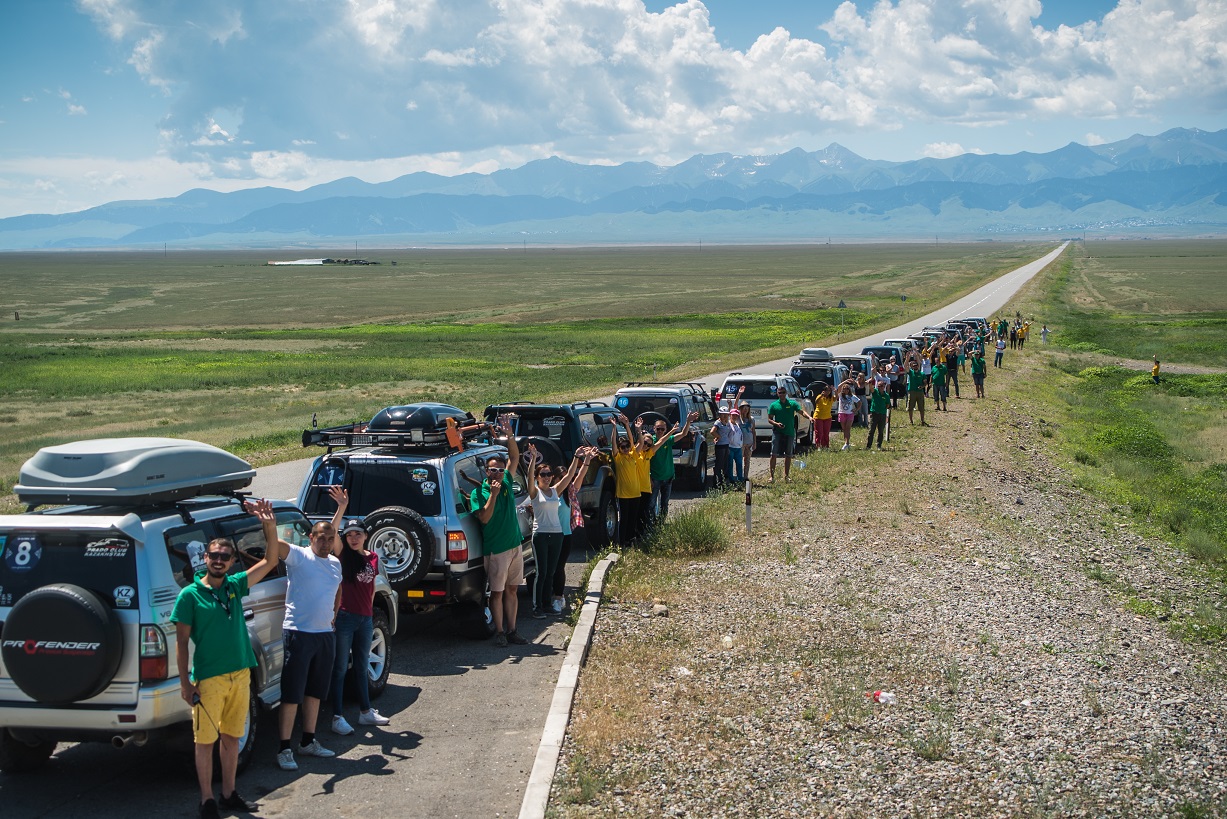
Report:
[[1227,232],[1227,130],[909,162],[832,144],[675,166],[558,157],[488,174],[194,189],[0,219],[0,249],[814,242]]

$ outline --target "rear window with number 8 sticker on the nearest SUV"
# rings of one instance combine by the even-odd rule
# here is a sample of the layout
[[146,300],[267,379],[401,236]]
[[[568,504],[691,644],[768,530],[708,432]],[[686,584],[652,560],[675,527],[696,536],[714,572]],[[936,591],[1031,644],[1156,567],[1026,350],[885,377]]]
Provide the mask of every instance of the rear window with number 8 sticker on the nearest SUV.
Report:
[[48,583],[87,588],[117,609],[136,609],[136,544],[115,532],[0,533],[0,605]]

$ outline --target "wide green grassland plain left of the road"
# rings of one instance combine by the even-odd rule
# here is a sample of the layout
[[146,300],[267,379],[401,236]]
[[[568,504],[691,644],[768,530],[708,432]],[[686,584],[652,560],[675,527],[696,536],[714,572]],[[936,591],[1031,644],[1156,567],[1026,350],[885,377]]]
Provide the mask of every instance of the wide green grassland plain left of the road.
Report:
[[696,377],[893,325],[1049,247],[405,250],[314,268],[237,252],[6,255],[5,308],[21,319],[0,329],[0,480],[81,437],[191,437],[266,463],[299,454],[313,414],[480,411]]

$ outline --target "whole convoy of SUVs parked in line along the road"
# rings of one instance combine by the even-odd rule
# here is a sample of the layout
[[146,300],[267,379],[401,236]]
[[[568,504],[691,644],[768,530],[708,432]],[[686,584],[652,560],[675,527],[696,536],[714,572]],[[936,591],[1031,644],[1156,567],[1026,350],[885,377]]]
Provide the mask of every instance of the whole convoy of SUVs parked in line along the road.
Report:
[[[308,544],[312,521],[329,519],[328,487],[348,491],[347,514],[368,533],[383,561],[377,581],[372,653],[366,673],[372,695],[388,680],[391,637],[401,607],[452,607],[475,635],[492,630],[481,527],[469,496],[481,485],[485,460],[507,457],[493,421],[506,417],[521,452],[531,444],[546,462],[563,467],[577,448],[610,452],[615,420],[698,420],[674,446],[680,479],[706,489],[713,470],[710,430],[718,408],[748,402],[757,443],[771,440],[767,409],[783,388],[814,411],[810,395],[821,383],[838,384],[864,372],[871,360],[901,357],[944,333],[969,333],[987,324],[971,318],[886,339],[861,355],[802,350],[788,373],[734,372],[714,394],[691,382],[631,382],[614,405],[503,403],[477,419],[445,404],[394,405],[369,421],[303,432],[304,447],[323,447],[313,459],[296,505],[274,503],[280,537]],[[799,419],[807,442],[810,422]],[[514,473],[515,470],[513,470]],[[259,521],[240,490],[255,470],[216,447],[174,438],[112,438],[47,447],[22,468],[13,491],[22,514],[0,516],[0,770],[32,770],[59,742],[107,740],[118,748],[190,722],[175,678],[171,609],[196,570],[204,546],[232,538],[234,571],[263,557]],[[614,475],[593,463],[579,490],[588,537],[610,543],[617,534]],[[519,510],[526,490],[514,484]],[[40,508],[47,507],[47,508]],[[530,522],[519,510],[526,575],[535,572]],[[283,565],[252,588],[244,611],[258,658],[240,764],[254,744],[255,717],[281,696],[286,575]]]

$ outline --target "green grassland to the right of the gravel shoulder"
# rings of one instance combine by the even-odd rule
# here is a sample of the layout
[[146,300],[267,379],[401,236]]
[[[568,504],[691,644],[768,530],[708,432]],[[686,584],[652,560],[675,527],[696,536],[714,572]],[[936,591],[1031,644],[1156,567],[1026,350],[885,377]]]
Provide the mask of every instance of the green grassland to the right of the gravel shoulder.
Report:
[[[1026,388],[1043,402],[1077,485],[1180,545],[1204,581],[1191,600],[1123,587],[1128,604],[1215,642],[1227,639],[1225,270],[1227,242],[1091,244],[1016,301],[1056,330],[1048,368]],[[1152,355],[1214,368],[1163,372],[1155,384]],[[1144,368],[1118,366],[1120,356]]]

